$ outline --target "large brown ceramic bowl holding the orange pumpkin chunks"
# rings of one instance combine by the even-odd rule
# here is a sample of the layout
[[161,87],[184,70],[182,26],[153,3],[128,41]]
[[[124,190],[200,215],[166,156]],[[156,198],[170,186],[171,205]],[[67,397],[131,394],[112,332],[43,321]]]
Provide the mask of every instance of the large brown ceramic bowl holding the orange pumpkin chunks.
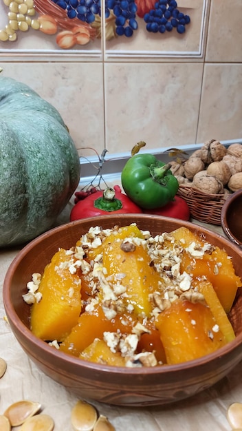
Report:
[[[44,233],[23,248],[10,265],[3,285],[3,302],[10,326],[25,353],[43,372],[78,397],[119,406],[152,406],[178,401],[212,386],[242,359],[242,295],[236,297],[230,318],[236,339],[217,352],[178,365],[119,368],[92,364],[60,353],[30,331],[30,306],[23,302],[26,284],[34,272],[42,273],[58,247],[69,248],[91,226],[111,228],[137,222],[152,234],[185,226],[200,231],[212,244],[223,247],[242,277],[242,251],[232,242],[190,222],[157,215],[104,215],[78,220]],[[91,328],[90,328],[91,330]]]

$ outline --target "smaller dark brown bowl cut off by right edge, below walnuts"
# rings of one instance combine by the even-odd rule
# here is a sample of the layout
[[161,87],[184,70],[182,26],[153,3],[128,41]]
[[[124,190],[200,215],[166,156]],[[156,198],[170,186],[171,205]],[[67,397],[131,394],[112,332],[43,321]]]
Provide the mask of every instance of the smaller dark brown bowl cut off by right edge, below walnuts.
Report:
[[221,209],[221,226],[225,235],[242,247],[242,189],[225,200]]

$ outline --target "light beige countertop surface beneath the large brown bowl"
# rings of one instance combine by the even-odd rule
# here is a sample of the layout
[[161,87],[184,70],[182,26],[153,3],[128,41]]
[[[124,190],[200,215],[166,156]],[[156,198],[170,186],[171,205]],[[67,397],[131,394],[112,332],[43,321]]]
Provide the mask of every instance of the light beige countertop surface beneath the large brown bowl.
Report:
[[[71,204],[70,204],[71,205]],[[58,223],[68,221],[67,206]],[[201,224],[196,220],[192,220]],[[223,234],[220,227],[203,224]],[[19,248],[0,250],[0,290],[8,266]],[[1,295],[2,296],[2,295]],[[73,431],[71,410],[78,401],[76,395],[50,379],[30,361],[5,320],[0,302],[0,357],[5,359],[7,370],[0,379],[0,414],[12,403],[28,399],[41,403],[42,412],[54,419],[54,431]],[[212,388],[199,395],[169,406],[150,408],[121,408],[86,400],[94,404],[100,414],[109,418],[116,431],[230,431],[226,419],[233,402],[242,403],[241,364]],[[19,430],[19,427],[14,428]]]

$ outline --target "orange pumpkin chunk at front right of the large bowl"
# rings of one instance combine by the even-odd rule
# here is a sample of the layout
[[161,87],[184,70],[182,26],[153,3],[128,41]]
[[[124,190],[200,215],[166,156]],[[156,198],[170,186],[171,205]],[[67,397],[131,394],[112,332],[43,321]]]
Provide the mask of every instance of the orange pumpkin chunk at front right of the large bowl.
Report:
[[214,352],[226,344],[208,306],[177,299],[155,322],[167,364],[179,364]]

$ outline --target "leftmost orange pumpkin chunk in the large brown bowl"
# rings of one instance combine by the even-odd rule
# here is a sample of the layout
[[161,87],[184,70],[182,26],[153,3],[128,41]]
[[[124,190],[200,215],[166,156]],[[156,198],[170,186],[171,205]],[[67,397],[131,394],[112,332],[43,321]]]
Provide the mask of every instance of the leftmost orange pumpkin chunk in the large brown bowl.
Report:
[[72,255],[57,251],[45,267],[39,292],[41,301],[31,310],[30,327],[43,340],[62,341],[78,322],[81,311],[80,277],[69,271]]

